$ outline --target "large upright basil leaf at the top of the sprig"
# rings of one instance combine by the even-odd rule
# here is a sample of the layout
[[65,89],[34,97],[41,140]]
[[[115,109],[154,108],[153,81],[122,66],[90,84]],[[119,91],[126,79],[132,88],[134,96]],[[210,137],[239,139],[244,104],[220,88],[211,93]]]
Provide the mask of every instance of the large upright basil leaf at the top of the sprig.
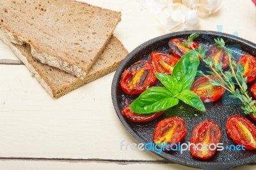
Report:
[[198,52],[191,50],[188,54],[182,56],[174,66],[172,77],[182,84],[182,90],[191,88],[199,63]]

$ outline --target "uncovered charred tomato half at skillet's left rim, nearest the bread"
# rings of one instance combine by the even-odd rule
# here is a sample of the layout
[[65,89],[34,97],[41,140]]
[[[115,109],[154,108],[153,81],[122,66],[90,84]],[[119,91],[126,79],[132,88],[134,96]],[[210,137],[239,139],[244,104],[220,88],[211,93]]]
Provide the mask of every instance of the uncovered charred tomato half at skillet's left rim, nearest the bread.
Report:
[[122,74],[121,88],[127,94],[140,94],[156,84],[155,70],[148,61],[137,61]]

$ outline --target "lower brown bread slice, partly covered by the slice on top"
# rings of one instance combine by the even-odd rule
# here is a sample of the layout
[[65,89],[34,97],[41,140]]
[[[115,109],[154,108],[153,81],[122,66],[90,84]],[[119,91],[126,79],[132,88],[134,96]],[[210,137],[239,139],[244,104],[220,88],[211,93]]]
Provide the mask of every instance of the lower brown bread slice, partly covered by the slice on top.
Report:
[[88,82],[92,82],[95,79],[113,72],[128,54],[124,45],[113,36],[102,54],[100,54],[97,61],[93,64],[87,76],[82,80],[58,68],[40,63],[40,61],[36,60],[31,55],[30,45],[10,43],[3,34],[1,35],[1,32],[0,38],[11,47],[15,55],[28,67],[28,70],[36,80],[40,82],[53,98],[60,98]]

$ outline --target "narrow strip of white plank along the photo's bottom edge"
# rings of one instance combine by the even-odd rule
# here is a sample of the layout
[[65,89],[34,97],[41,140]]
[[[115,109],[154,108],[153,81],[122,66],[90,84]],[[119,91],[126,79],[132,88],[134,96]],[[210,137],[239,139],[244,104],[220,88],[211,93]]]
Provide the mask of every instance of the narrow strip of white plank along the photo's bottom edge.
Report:
[[[247,165],[234,167],[232,170],[254,170],[256,166]],[[130,169],[147,169],[147,170],[196,170],[198,168],[181,166],[179,164],[157,163],[157,162],[104,162],[104,161],[49,161],[49,160],[1,160],[0,169],[6,170],[55,170],[55,169],[111,169],[111,170],[130,170]]]

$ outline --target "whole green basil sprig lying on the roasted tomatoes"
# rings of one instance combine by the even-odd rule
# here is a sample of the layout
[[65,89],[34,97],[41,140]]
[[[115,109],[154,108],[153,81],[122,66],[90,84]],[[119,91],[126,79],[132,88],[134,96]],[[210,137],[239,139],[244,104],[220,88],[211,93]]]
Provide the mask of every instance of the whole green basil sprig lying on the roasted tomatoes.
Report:
[[165,111],[179,104],[179,100],[199,111],[205,111],[202,100],[189,90],[195,80],[199,63],[198,52],[191,50],[174,66],[172,75],[156,73],[157,79],[164,87],[148,88],[141,93],[140,97],[136,98],[130,105],[131,111],[138,114]]

